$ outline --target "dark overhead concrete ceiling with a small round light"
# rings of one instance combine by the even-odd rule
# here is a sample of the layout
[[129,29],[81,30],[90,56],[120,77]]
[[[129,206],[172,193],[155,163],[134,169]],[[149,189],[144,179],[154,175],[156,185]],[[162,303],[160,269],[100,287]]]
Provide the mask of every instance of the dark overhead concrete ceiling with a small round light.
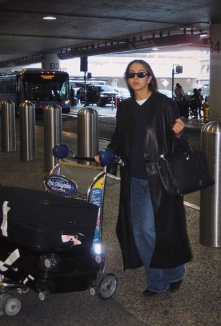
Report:
[[[55,17],[46,20],[44,17]],[[128,52],[209,49],[217,0],[0,0],[0,68]]]

